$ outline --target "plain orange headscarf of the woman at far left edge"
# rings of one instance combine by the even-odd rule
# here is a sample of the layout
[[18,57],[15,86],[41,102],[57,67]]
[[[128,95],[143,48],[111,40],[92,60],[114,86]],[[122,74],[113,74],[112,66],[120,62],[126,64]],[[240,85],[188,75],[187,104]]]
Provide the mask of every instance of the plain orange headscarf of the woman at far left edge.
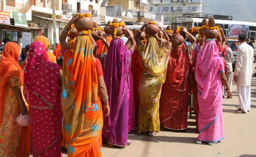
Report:
[[3,49],[0,60],[0,125],[2,124],[2,107],[5,96],[5,86],[9,77],[17,77],[23,82],[23,71],[18,64],[21,49],[18,44],[8,42]]

